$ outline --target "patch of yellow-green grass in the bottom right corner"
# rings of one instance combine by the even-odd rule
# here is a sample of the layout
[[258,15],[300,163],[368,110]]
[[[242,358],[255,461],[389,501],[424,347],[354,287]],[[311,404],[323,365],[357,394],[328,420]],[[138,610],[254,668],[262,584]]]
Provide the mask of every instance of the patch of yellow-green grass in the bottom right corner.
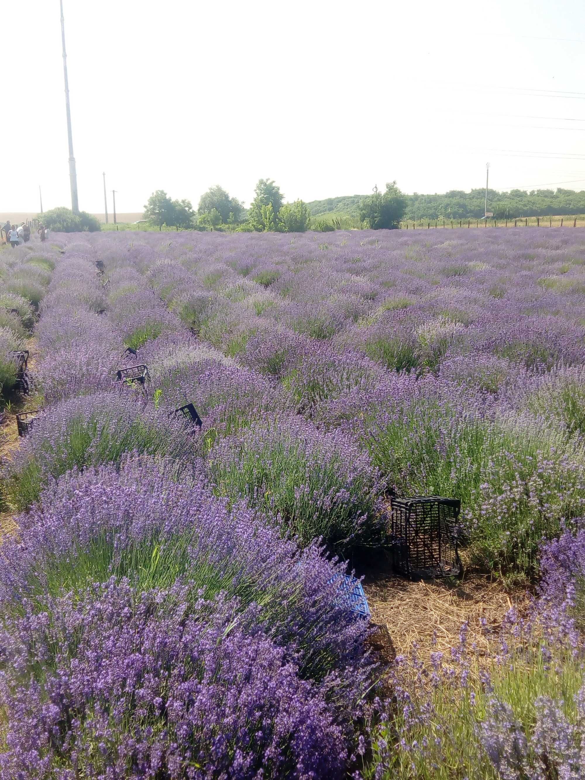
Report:
[[[512,777],[499,774],[480,740],[482,722],[494,714],[490,704],[493,699],[511,707],[512,717],[529,741],[537,720],[535,702],[539,697],[555,701],[569,722],[576,724],[575,697],[583,684],[580,656],[573,656],[562,647],[552,648],[554,658],[549,664],[541,643],[521,637],[515,644],[519,651],[513,661],[498,664],[491,659],[471,658],[467,684],[459,684],[457,678],[449,682],[449,675],[443,673],[441,682],[433,690],[428,675],[420,675],[417,679],[416,670],[405,671],[401,682],[411,694],[409,721],[400,707],[392,707],[390,717],[380,725],[373,761],[365,771],[367,780],[374,778],[377,764],[386,768],[381,775],[384,780],[502,780],[502,777]],[[447,666],[448,660],[445,668]],[[493,691],[482,682],[478,674],[480,668],[484,673],[488,672]],[[428,717],[429,713],[431,717]],[[505,727],[502,730],[505,732]],[[401,739],[405,740],[403,744]],[[559,754],[551,755],[549,760],[554,764],[559,758]],[[528,761],[538,764],[540,756],[529,750]],[[515,778],[527,776],[513,775]],[[551,780],[559,776],[554,768],[546,775]]]

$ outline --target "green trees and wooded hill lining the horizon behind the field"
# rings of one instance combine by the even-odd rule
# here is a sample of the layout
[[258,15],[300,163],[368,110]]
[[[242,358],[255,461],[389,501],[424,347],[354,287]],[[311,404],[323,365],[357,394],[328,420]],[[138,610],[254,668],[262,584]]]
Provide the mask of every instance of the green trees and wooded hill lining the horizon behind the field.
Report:
[[[190,200],[173,200],[156,190],[144,207],[144,218],[156,227],[239,232],[304,232],[333,230],[335,220],[347,216],[363,228],[394,229],[403,221],[436,219],[480,219],[484,216],[485,190],[450,190],[447,193],[406,195],[395,182],[385,190],[374,186],[371,195],[351,195],[305,203],[285,203],[285,196],[272,179],[260,179],[249,208],[231,197],[222,186],[210,187],[199,200],[197,210]],[[488,211],[498,219],[576,215],[585,213],[585,190],[488,190]],[[330,220],[328,215],[332,215]],[[99,230],[93,215],[73,215],[59,207],[39,215],[44,225],[58,232]],[[339,226],[339,225],[338,225]]]

